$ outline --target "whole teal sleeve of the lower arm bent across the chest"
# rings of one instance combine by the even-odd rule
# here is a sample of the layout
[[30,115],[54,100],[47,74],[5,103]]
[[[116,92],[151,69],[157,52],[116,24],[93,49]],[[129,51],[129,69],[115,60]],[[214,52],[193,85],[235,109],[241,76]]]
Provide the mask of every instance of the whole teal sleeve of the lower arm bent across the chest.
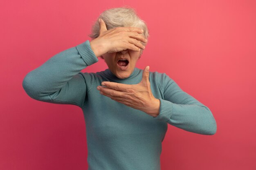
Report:
[[159,115],[154,118],[189,132],[214,135],[217,125],[211,110],[182,91],[168,75],[165,73],[163,75],[164,99],[159,98]]

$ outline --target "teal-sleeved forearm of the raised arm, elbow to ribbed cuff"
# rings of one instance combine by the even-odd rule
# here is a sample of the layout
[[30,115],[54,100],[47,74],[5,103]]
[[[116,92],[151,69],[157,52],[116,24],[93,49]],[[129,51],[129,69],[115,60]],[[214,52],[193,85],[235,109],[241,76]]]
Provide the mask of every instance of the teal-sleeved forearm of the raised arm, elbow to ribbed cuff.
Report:
[[59,91],[74,75],[97,61],[89,41],[86,41],[54,55],[30,71],[23,79],[23,88],[32,98],[52,94]]

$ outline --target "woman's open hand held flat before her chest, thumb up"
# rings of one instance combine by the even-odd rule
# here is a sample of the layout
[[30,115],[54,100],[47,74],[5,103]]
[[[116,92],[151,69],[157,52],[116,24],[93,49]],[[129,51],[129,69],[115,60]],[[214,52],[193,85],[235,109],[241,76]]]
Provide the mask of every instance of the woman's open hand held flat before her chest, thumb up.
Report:
[[150,88],[149,66],[144,68],[141,82],[138,84],[102,82],[101,85],[97,89],[102,95],[153,117],[159,114],[160,100],[154,97]]

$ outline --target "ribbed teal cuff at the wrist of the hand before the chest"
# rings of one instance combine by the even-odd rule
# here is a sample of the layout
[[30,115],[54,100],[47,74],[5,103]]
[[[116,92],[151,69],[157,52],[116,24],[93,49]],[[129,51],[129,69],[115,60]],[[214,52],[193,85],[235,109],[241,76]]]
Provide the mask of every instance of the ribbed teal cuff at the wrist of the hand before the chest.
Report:
[[171,114],[173,113],[173,103],[167,100],[160,100],[160,108],[159,108],[159,115],[157,117],[153,117],[156,120],[161,120],[167,122],[171,119]]

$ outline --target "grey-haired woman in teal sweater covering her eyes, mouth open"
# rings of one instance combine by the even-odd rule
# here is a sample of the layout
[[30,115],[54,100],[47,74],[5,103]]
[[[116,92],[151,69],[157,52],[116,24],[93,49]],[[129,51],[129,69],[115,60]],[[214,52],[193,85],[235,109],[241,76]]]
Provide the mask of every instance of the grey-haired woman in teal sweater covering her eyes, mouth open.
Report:
[[[92,40],[57,53],[22,84],[33,99],[83,110],[88,170],[160,170],[168,124],[202,135],[216,133],[207,106],[165,73],[136,68],[149,34],[134,9],[108,9],[98,19]],[[108,69],[81,72],[99,57]]]

